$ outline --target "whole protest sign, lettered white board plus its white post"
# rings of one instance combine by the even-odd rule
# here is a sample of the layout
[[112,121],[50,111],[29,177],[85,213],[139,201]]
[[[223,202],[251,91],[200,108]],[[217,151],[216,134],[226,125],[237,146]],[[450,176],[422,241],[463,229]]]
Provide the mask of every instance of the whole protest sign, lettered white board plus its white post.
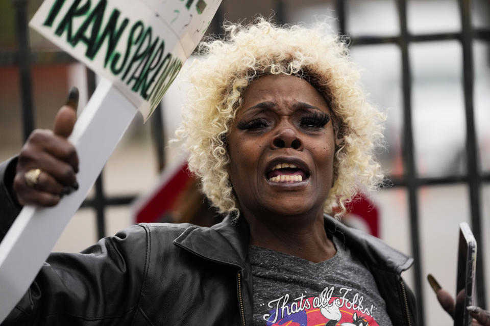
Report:
[[[39,33],[102,76],[68,140],[79,189],[55,207],[26,206],[0,242],[0,323],[26,293],[61,232],[141,112],[148,119],[221,0],[45,0]],[[136,108],[139,110],[136,110]]]

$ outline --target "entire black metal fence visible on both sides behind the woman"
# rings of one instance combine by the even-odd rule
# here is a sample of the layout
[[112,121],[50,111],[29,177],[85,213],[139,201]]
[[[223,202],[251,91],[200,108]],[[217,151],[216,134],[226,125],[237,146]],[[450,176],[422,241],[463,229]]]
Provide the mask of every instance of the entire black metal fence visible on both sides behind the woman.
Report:
[[[397,0],[398,18],[400,24],[400,33],[397,36],[380,37],[380,36],[362,36],[351,38],[351,46],[362,46],[368,44],[396,44],[400,48],[402,62],[402,87],[403,87],[403,144],[402,156],[404,165],[404,174],[400,178],[392,178],[393,186],[404,187],[407,191],[407,201],[410,215],[410,235],[412,255],[415,259],[415,279],[414,291],[418,298],[418,309],[420,314],[420,323],[424,324],[424,304],[423,304],[423,287],[422,287],[422,261],[420,249],[419,234],[419,202],[417,198],[418,189],[422,186],[433,186],[443,184],[467,184],[469,187],[469,200],[471,206],[471,226],[478,243],[482,240],[482,223],[481,223],[481,186],[483,182],[490,181],[489,173],[481,173],[478,169],[478,147],[475,132],[475,116],[473,110],[473,41],[483,40],[490,42],[489,29],[475,29],[472,27],[470,15],[470,1],[458,0],[459,12],[461,19],[461,31],[457,33],[436,33],[412,35],[407,29],[407,0]],[[63,52],[54,53],[46,61],[40,53],[31,52],[29,49],[29,35],[27,28],[27,5],[28,0],[13,0],[16,15],[16,39],[17,51],[0,52],[0,65],[16,65],[19,68],[21,103],[22,103],[22,126],[23,135],[26,139],[35,126],[33,115],[33,100],[31,86],[31,64],[36,63],[60,63],[75,62],[70,56]],[[286,3],[277,0],[275,2],[275,19],[277,22],[284,22],[284,12],[287,10]],[[336,16],[338,16],[339,30],[342,34],[347,32],[347,3],[342,0],[335,0]],[[215,34],[220,31],[220,21],[224,13],[218,10],[216,18],[213,19],[210,28]],[[437,42],[446,40],[457,40],[462,47],[463,60],[463,85],[464,85],[464,107],[466,120],[466,166],[465,175],[452,175],[445,177],[419,177],[415,169],[414,159],[414,141],[412,134],[412,79],[408,47],[411,43],[418,42]],[[95,76],[88,72],[88,89],[89,93],[95,89]],[[156,110],[152,117],[152,129],[154,140],[157,148],[160,169],[164,166],[164,144],[162,130],[161,111]],[[128,205],[133,201],[135,196],[115,196],[108,197],[104,193],[103,177],[97,179],[95,184],[95,196],[93,199],[86,200],[82,207],[90,207],[96,211],[97,218],[97,235],[105,236],[105,218],[104,211],[109,206]],[[482,247],[478,250],[477,264],[477,301],[480,307],[485,308],[485,285],[484,285],[484,254]]]

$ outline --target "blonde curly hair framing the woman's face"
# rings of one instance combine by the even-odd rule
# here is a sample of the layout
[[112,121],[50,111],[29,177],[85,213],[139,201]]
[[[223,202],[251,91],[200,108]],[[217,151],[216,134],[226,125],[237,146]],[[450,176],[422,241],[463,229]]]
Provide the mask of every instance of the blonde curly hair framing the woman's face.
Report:
[[326,213],[340,216],[359,188],[376,189],[383,173],[374,150],[383,144],[385,117],[366,101],[359,70],[349,59],[345,39],[326,23],[277,26],[225,24],[225,39],[202,42],[200,59],[189,68],[192,84],[177,137],[189,152],[189,170],[220,213],[239,214],[227,172],[227,135],[254,78],[286,74],[305,78],[323,94],[333,113],[335,181]]

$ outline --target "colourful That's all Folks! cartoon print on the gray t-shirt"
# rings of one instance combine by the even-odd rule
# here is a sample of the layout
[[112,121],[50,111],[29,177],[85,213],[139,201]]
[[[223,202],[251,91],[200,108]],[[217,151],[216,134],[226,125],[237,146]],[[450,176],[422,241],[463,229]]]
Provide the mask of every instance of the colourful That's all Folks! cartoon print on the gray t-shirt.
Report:
[[[333,296],[339,293],[339,296]],[[352,289],[326,287],[316,296],[284,294],[269,301],[263,315],[266,326],[379,326],[376,307],[363,304],[364,297]]]

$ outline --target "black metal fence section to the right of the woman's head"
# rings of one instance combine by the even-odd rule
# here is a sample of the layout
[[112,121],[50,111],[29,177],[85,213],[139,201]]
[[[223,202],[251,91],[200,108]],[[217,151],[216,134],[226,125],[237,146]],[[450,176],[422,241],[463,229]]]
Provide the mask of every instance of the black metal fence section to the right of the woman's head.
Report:
[[[480,39],[490,41],[490,30],[474,29],[471,24],[470,1],[458,0],[461,18],[461,32],[411,35],[407,28],[407,0],[398,0],[398,18],[400,23],[400,35],[395,37],[364,36],[352,38],[352,46],[366,44],[393,43],[400,47],[402,56],[402,86],[403,86],[403,143],[402,156],[404,175],[402,178],[392,178],[393,186],[405,187],[408,194],[408,207],[410,214],[410,235],[412,255],[415,260],[415,295],[418,300],[420,324],[424,324],[423,287],[424,276],[422,274],[422,259],[419,234],[419,203],[417,198],[418,188],[422,186],[465,183],[469,187],[471,227],[477,243],[482,243],[481,223],[481,184],[490,181],[489,173],[481,173],[478,169],[478,146],[475,131],[475,116],[473,108],[473,40]],[[337,0],[337,11],[340,22],[340,31],[346,34],[346,8],[345,2]],[[457,40],[462,46],[463,58],[463,85],[464,108],[466,120],[466,165],[467,174],[462,176],[445,176],[421,178],[415,169],[412,134],[412,80],[408,46],[415,42],[436,42]],[[484,254],[482,247],[477,252],[477,301],[481,307],[486,307],[485,279],[484,279]]]

